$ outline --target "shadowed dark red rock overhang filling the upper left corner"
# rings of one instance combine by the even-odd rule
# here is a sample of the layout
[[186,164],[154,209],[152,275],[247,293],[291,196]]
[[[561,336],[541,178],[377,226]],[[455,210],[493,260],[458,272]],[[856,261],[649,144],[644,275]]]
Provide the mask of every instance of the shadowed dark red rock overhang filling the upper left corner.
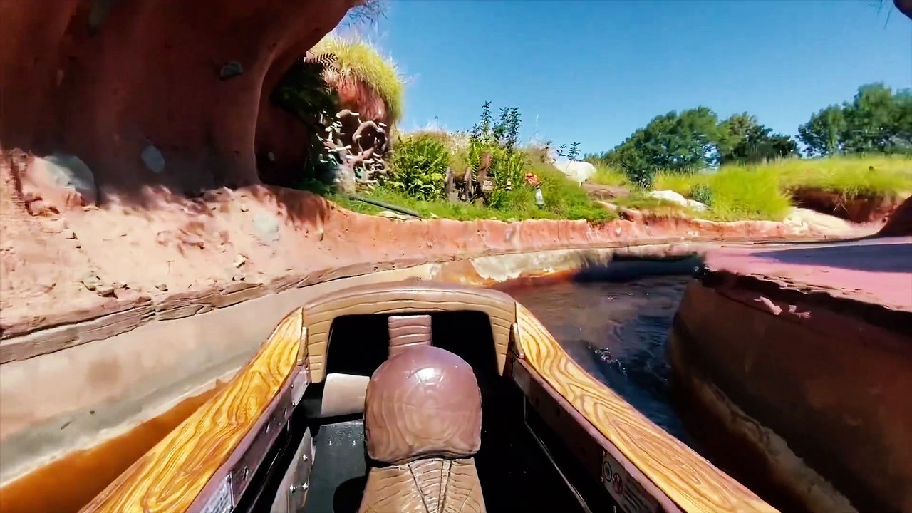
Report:
[[102,202],[259,183],[269,93],[357,1],[0,0],[2,150],[84,162]]

